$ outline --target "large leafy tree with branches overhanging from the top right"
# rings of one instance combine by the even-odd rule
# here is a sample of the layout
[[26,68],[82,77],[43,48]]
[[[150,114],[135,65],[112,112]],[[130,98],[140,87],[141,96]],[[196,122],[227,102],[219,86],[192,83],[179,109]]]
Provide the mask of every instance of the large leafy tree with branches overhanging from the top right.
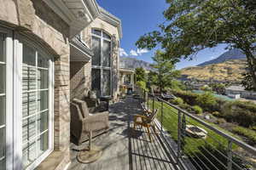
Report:
[[145,34],[138,48],[159,43],[173,59],[193,59],[204,48],[220,43],[239,48],[247,56],[248,73],[256,89],[256,10],[254,0],[166,0],[170,7],[160,31]]

